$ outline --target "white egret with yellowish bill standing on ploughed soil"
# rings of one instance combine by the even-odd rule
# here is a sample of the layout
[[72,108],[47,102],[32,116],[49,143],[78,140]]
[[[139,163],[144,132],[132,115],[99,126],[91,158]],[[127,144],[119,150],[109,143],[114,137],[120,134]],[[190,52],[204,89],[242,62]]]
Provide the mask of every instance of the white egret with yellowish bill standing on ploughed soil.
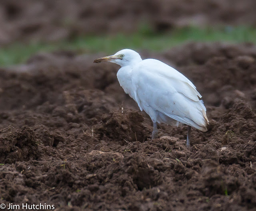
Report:
[[206,108],[196,87],[176,69],[156,59],[142,60],[131,49],[95,59],[94,63],[109,61],[121,66],[117,78],[140,110],[152,119],[152,139],[158,137],[157,123],[188,125],[186,145],[190,147],[191,126],[206,131]]

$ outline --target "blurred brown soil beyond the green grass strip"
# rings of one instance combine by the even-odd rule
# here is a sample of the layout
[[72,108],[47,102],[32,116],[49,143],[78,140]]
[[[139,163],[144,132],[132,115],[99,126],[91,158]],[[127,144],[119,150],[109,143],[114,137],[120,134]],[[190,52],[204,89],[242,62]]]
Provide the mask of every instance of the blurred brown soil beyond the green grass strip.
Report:
[[256,26],[255,0],[1,0],[0,44],[183,26]]

